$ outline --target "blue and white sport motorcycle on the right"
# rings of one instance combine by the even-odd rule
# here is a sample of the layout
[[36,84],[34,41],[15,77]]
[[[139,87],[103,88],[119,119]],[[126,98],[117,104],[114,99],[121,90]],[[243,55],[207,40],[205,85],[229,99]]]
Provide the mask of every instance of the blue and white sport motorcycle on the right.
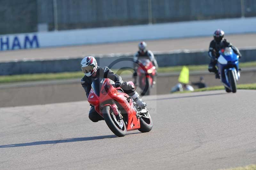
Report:
[[239,56],[234,53],[231,47],[219,51],[218,72],[220,81],[225,86],[226,92],[236,93],[236,81],[240,78]]

